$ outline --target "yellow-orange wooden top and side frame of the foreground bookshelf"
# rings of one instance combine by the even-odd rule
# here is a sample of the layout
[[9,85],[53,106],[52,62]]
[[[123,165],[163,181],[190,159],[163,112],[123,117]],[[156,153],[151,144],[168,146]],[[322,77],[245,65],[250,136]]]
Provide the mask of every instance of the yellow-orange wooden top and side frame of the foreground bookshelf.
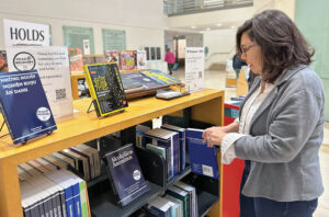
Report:
[[[182,115],[182,110],[186,107],[191,107],[193,121],[219,126],[224,121],[224,91],[212,89],[171,101],[155,98],[140,99],[129,102],[129,107],[125,112],[101,119],[94,113],[87,114],[90,102],[90,99],[75,101],[73,106],[78,112],[75,113],[73,118],[57,123],[58,129],[50,136],[43,136],[20,147],[14,146],[9,137],[0,140],[0,217],[23,216],[18,176],[20,163],[126,129],[158,116]],[[7,133],[7,128],[2,130],[3,134]],[[220,163],[220,155],[218,155],[218,162]],[[222,164],[219,170],[222,178]],[[219,195],[222,185],[219,180]],[[208,216],[222,216],[222,201],[220,196]]]

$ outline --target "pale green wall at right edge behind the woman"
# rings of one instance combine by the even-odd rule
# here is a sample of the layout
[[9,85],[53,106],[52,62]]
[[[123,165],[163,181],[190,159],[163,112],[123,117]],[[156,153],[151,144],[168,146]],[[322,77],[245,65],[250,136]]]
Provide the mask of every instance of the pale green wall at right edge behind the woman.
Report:
[[[295,21],[300,32],[316,48],[313,67],[325,85],[326,121],[329,122],[329,16],[328,0],[296,1]],[[311,18],[310,18],[311,16]]]

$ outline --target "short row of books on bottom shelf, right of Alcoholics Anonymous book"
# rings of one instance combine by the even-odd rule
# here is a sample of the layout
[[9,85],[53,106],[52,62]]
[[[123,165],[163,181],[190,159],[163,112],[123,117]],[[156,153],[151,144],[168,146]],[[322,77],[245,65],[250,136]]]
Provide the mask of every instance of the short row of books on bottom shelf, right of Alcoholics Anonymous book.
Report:
[[197,217],[196,190],[179,181],[168,189],[163,197],[157,197],[145,205],[143,213],[159,217]]

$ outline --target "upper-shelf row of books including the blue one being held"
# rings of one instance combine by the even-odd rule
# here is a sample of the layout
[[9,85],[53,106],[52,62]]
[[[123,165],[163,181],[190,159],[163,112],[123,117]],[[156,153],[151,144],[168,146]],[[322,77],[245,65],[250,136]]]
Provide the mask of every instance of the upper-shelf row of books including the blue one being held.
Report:
[[217,147],[209,148],[203,142],[203,130],[182,128],[164,124],[161,128],[136,127],[136,145],[149,149],[167,161],[168,182],[185,169],[186,147],[191,171],[218,179]]

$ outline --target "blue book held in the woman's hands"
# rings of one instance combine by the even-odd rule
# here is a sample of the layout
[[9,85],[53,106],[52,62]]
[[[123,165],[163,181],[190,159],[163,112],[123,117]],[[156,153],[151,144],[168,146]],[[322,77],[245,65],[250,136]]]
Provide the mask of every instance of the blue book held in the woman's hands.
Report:
[[186,128],[186,142],[190,155],[191,171],[196,174],[218,179],[217,148],[203,142],[204,130]]

